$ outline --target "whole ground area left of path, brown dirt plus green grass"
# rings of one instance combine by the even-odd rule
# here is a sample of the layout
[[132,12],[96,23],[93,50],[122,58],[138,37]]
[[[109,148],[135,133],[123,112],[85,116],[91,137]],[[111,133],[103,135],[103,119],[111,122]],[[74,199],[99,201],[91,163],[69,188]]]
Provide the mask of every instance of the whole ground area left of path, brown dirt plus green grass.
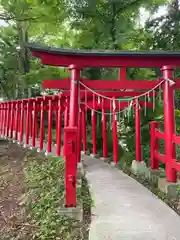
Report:
[[85,178],[77,189],[83,221],[59,214],[64,204],[64,160],[0,143],[1,240],[88,239],[91,198]]

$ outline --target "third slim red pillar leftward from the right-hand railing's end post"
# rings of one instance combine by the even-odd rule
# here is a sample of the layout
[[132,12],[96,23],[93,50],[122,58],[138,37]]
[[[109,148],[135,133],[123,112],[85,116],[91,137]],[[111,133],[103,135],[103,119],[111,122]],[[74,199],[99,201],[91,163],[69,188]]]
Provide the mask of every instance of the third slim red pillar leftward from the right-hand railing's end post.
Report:
[[105,100],[102,99],[102,140],[103,140],[103,158],[108,158],[107,135],[106,135],[106,114],[104,109]]

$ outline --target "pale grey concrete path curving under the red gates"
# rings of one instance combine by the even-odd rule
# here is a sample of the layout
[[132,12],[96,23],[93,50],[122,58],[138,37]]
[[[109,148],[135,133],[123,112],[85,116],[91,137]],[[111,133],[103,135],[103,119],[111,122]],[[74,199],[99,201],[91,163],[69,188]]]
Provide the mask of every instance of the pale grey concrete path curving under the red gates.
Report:
[[180,217],[140,183],[83,155],[95,202],[89,240],[180,240]]

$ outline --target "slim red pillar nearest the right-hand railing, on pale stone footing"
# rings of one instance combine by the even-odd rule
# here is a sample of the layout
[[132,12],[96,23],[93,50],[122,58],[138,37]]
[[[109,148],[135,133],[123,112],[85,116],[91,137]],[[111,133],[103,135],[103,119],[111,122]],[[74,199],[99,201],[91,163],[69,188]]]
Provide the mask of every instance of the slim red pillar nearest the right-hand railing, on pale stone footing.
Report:
[[136,131],[136,161],[142,161],[141,154],[141,116],[140,116],[140,105],[139,100],[136,99],[135,104],[135,131]]

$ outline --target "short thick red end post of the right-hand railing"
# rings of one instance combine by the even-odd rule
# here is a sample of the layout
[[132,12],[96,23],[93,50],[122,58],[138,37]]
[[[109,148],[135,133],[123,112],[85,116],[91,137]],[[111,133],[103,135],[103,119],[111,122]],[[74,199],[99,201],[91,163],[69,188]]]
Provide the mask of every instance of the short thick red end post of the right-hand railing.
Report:
[[155,156],[158,151],[158,139],[155,137],[156,128],[159,127],[159,123],[155,121],[150,122],[150,167],[151,169],[159,169],[159,161]]

